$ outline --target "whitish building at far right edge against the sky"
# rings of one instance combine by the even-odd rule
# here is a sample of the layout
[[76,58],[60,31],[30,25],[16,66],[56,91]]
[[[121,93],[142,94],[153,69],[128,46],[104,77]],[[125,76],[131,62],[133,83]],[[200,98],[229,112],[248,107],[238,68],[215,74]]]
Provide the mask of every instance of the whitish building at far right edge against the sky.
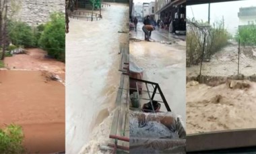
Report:
[[256,7],[241,7],[238,17],[239,25],[256,25]]

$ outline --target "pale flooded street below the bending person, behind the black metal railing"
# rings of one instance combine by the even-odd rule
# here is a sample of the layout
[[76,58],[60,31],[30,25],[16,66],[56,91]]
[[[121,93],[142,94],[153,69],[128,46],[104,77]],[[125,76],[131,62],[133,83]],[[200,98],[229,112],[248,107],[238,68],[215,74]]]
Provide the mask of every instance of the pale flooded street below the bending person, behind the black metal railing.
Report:
[[[131,38],[141,39],[141,41],[130,41],[130,61],[143,69],[143,80],[160,85],[172,112],[180,115],[186,123],[185,42],[174,38],[168,40],[169,37],[163,37],[155,32],[152,31],[152,39],[156,38],[158,42],[145,42],[143,41],[144,33],[136,36],[133,35],[135,32],[131,31]],[[137,33],[140,33],[139,30]],[[161,44],[159,43],[161,41],[172,42],[172,44]]]

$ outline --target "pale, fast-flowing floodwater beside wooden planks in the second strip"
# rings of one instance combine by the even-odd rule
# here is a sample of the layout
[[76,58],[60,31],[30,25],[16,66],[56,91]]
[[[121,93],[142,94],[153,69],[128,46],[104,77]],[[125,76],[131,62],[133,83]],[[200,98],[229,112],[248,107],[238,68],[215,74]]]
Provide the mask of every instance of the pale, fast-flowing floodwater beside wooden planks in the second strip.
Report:
[[110,4],[102,8],[101,20],[70,19],[66,35],[66,153],[98,153],[98,145],[108,141],[109,114],[115,108],[121,74],[119,43],[127,43],[129,38],[127,33],[118,33],[129,31],[129,5]]

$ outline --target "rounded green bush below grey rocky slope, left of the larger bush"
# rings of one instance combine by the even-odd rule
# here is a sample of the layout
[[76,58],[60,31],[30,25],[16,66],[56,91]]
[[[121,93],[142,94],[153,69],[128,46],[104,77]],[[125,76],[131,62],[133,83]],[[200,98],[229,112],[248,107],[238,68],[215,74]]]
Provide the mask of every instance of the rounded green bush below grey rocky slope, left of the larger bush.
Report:
[[9,39],[14,45],[23,45],[24,47],[34,47],[34,34],[32,27],[21,21],[9,21],[7,26]]

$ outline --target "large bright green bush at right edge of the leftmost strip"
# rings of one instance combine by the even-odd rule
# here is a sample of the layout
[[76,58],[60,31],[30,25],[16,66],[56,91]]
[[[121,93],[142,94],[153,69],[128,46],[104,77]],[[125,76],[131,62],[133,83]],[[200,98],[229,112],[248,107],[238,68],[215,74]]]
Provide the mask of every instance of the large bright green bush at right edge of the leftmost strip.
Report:
[[51,21],[44,26],[38,45],[49,56],[65,62],[65,14],[51,14]]

